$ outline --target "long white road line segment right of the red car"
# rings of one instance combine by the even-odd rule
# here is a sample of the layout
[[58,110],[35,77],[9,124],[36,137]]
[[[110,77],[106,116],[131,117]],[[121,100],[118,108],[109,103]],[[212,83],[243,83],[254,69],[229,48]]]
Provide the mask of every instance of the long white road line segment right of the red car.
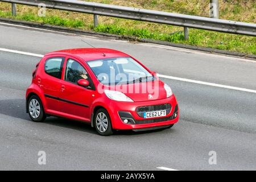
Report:
[[233,89],[233,90],[240,90],[240,91],[243,91],[243,92],[256,93],[256,90],[245,89],[245,88],[240,88],[240,87],[236,87],[236,86],[213,84],[213,83],[210,83],[210,82],[190,80],[190,79],[187,79],[187,78],[179,78],[179,77],[166,76],[166,75],[160,75],[160,74],[157,74],[157,76],[162,77],[162,78],[168,78],[168,79],[171,79],[171,80],[179,80],[179,81],[185,81],[185,82],[192,82],[192,83],[195,83],[195,84],[216,86],[216,87],[225,88],[225,89]]

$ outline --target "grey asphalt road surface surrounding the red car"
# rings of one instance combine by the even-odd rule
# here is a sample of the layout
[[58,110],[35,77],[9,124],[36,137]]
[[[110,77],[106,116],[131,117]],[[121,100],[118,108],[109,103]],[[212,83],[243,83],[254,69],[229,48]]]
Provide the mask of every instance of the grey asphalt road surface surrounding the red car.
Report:
[[[127,52],[162,75],[256,89],[254,61],[0,23],[0,48],[43,55],[88,47],[80,39]],[[68,119],[30,121],[24,94],[39,60],[0,51],[0,169],[256,169],[255,93],[162,78],[180,105],[177,125],[101,137],[89,125]],[[39,151],[46,152],[46,165],[38,164]],[[216,165],[208,163],[209,151],[216,151]]]

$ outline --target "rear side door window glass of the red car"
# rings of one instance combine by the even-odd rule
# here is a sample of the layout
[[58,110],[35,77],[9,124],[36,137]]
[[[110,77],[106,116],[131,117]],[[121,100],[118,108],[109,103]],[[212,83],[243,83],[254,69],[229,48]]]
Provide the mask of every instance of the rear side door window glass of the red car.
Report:
[[55,78],[61,78],[64,57],[52,57],[46,60],[44,71]]

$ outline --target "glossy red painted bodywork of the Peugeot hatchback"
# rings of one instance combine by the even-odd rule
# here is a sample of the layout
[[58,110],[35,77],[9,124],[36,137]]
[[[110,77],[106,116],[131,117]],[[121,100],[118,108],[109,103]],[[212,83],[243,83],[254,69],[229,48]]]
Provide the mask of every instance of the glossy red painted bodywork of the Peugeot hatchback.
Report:
[[[104,56],[104,54],[105,56]],[[44,72],[44,63],[50,57],[64,57],[63,71],[61,79],[47,75]],[[166,117],[174,113],[174,108],[177,105],[176,98],[174,94],[171,97],[166,98],[166,91],[163,88],[163,82],[159,81],[159,97],[153,98],[152,100],[147,100],[147,93],[134,93],[126,94],[128,97],[134,100],[134,102],[123,102],[110,100],[104,93],[99,93],[97,91],[98,84],[101,84],[97,77],[93,74],[92,70],[86,64],[86,61],[105,59],[111,57],[131,57],[126,53],[119,52],[113,49],[106,48],[78,48],[78,49],[67,49],[56,52],[47,53],[40,63],[37,65],[35,76],[32,78],[32,83],[28,87],[26,92],[26,100],[31,94],[36,94],[42,101],[44,111],[48,115],[56,115],[65,118],[76,119],[79,121],[84,121],[90,123],[92,121],[92,116],[94,109],[98,106],[104,107],[108,110],[110,119],[112,121],[113,129],[127,130],[127,129],[143,129],[147,127],[165,126],[171,125],[178,121],[179,111],[177,117],[170,121],[155,122],[148,124],[137,124],[130,125],[122,122],[119,117],[118,111],[129,111],[134,119],[144,119],[139,117],[135,109],[138,106],[147,105],[159,105],[159,104],[171,104],[171,112],[166,115]],[[86,89],[82,86],[72,84],[64,80],[64,70],[68,59],[73,59],[78,61],[88,72],[90,78],[92,78],[93,84],[96,90]],[[134,57],[132,57],[134,59]],[[136,60],[136,59],[134,59]],[[138,60],[136,60],[138,61]],[[141,64],[138,61],[139,64]],[[143,64],[141,64],[145,69],[147,69]],[[147,69],[148,72],[151,72]],[[154,73],[153,73],[154,74]],[[158,79],[158,78],[157,78]],[[137,83],[136,83],[137,84]],[[143,86],[142,83],[138,83],[137,86]],[[64,89],[63,89],[64,88]],[[61,98],[63,100],[68,100],[72,102],[77,102],[88,107],[69,104],[68,102],[63,102],[60,100],[55,100],[54,98],[45,97],[45,94]],[[160,117],[162,118],[162,117]]]

